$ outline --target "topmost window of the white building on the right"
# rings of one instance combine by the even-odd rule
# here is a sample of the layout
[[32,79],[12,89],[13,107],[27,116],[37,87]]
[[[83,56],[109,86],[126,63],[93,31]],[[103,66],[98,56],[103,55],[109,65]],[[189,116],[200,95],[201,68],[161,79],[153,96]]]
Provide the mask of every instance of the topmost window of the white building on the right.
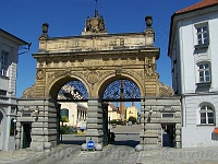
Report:
[[209,44],[208,26],[206,24],[196,26],[196,35],[197,35],[197,45]]

